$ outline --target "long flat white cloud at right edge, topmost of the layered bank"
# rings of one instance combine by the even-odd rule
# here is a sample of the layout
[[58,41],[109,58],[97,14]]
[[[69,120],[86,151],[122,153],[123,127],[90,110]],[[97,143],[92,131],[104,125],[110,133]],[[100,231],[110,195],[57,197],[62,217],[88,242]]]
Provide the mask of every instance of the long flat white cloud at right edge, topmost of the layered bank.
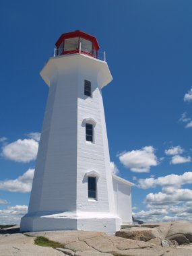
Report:
[[141,189],[149,189],[156,187],[157,185],[161,187],[172,187],[179,188],[182,185],[192,184],[192,172],[184,172],[181,175],[170,174],[165,177],[158,177],[158,179],[148,178],[139,179],[137,181],[137,187]]

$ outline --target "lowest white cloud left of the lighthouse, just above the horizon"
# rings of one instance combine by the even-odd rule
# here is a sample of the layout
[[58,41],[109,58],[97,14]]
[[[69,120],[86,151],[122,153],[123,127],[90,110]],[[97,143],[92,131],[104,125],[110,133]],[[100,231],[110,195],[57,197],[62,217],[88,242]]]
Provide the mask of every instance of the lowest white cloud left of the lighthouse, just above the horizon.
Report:
[[27,205],[15,205],[0,210],[1,224],[20,224],[22,216],[27,212]]

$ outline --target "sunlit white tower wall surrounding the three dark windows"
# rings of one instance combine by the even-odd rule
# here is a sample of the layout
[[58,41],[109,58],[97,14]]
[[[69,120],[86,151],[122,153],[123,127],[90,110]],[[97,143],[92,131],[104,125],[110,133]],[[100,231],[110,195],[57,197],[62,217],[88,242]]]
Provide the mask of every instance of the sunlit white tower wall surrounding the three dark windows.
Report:
[[[77,211],[114,212],[112,176],[106,137],[106,124],[102,103],[102,79],[100,67],[92,59],[82,58],[79,67],[79,86],[77,100]],[[92,98],[84,95],[84,79],[92,83]],[[86,141],[84,119],[92,118],[94,125],[94,143]],[[88,199],[88,177],[86,172],[96,171],[98,200]]]

